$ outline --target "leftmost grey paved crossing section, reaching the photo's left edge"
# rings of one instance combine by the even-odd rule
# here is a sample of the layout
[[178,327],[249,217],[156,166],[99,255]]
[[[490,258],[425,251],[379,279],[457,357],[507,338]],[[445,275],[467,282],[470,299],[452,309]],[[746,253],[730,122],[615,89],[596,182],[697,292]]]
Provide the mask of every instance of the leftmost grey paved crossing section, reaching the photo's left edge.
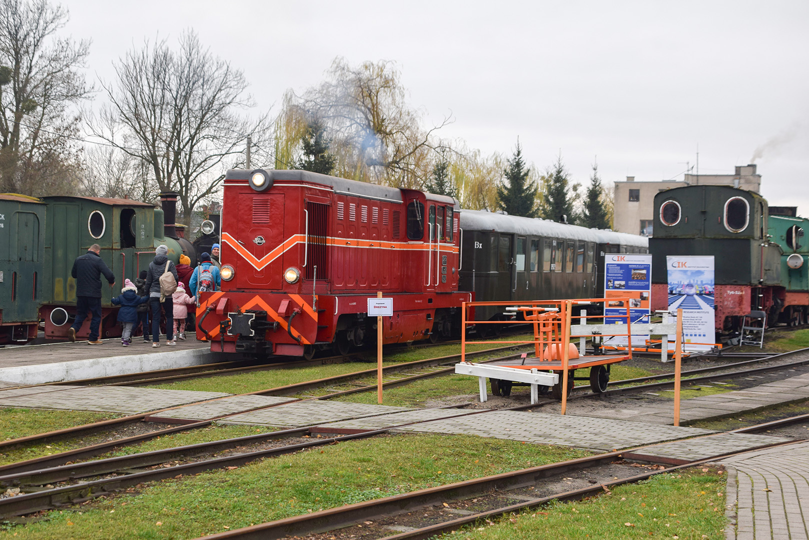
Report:
[[[57,391],[9,395],[0,390],[0,406],[35,409],[98,410],[136,415],[150,410],[222,398],[229,393],[163,390],[129,386],[58,386]],[[39,390],[39,389],[36,389]]]

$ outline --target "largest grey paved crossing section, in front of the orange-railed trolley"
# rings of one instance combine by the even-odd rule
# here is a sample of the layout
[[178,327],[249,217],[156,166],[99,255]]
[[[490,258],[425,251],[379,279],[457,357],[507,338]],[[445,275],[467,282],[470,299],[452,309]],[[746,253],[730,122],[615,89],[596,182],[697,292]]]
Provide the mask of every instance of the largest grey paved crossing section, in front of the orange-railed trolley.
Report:
[[396,431],[460,433],[605,451],[714,433],[694,427],[650,426],[625,420],[517,410],[493,410],[480,415],[435,420],[400,427]]

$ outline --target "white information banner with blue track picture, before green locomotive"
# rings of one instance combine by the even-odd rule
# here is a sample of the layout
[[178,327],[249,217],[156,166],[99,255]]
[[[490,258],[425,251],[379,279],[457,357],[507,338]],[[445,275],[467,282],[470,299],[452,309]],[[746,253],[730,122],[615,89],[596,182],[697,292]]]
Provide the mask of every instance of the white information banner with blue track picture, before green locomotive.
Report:
[[[683,350],[708,351],[714,334],[714,256],[668,256],[668,310],[683,309]],[[669,336],[674,342],[674,336]]]

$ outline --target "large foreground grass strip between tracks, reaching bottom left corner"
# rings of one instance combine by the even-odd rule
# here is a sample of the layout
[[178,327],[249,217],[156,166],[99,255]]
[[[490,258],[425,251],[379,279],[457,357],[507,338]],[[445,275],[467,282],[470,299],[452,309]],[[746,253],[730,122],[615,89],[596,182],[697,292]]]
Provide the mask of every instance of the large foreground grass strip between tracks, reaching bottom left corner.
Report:
[[235,470],[170,479],[138,494],[2,525],[41,540],[197,538],[251,524],[588,455],[472,436],[396,435],[331,444]]

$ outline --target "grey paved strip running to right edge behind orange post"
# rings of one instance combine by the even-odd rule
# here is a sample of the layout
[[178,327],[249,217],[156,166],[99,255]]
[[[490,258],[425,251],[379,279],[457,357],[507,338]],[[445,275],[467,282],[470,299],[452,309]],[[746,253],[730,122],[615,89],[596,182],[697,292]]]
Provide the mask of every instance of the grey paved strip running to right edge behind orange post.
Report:
[[[726,418],[742,412],[752,412],[807,399],[809,399],[809,373],[804,373],[748,389],[684,399],[680,402],[680,423],[688,424],[698,420]],[[570,402],[569,407],[570,412],[574,415],[656,424],[673,422],[673,402],[638,403],[637,407],[604,408],[595,411],[576,410],[575,402]]]

